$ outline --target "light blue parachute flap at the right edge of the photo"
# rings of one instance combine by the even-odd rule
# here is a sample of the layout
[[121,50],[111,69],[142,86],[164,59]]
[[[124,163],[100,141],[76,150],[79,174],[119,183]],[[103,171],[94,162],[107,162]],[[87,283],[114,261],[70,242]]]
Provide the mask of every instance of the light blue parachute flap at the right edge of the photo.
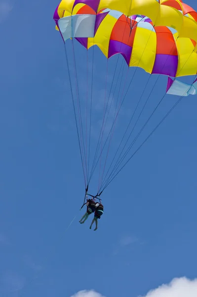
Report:
[[168,77],[166,94],[177,96],[189,96],[197,94],[197,79],[192,85],[185,84],[179,80]]

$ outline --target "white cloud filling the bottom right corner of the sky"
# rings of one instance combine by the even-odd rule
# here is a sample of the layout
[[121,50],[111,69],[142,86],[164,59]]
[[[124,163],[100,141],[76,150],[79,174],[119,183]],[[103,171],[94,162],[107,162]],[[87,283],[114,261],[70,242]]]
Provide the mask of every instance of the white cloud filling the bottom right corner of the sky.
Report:
[[175,278],[171,283],[151,290],[145,297],[197,297],[197,279]]

